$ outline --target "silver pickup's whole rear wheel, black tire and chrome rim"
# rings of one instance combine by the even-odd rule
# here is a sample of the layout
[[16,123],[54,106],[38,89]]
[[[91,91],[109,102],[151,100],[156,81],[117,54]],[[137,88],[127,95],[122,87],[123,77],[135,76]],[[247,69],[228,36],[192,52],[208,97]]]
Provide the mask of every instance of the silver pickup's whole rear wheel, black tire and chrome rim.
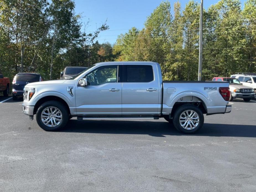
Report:
[[195,133],[202,128],[203,123],[203,113],[198,107],[194,105],[181,105],[174,112],[173,124],[175,128],[182,133]]

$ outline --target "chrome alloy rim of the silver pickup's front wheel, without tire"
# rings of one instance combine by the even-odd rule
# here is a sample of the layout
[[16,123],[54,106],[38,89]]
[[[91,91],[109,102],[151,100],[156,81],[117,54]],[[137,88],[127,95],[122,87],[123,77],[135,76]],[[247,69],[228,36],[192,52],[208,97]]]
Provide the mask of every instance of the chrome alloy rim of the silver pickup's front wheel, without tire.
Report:
[[48,127],[55,127],[62,121],[61,111],[57,107],[46,107],[41,113],[43,124]]

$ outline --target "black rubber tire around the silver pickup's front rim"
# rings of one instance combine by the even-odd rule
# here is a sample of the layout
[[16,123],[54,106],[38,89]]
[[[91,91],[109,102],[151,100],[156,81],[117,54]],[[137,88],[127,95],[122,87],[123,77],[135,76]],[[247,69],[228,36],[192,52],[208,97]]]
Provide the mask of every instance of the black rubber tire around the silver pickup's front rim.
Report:
[[[49,127],[49,126],[46,126],[42,122],[41,113],[43,112],[43,110],[46,107],[56,107],[61,111],[62,120],[61,120],[60,124],[56,125],[55,127]],[[43,103],[42,105],[40,105],[40,107],[37,109],[36,119],[37,119],[37,124],[43,130],[45,130],[45,131],[58,131],[61,128],[64,128],[66,126],[66,124],[68,123],[68,120],[69,120],[68,109],[65,106],[63,106],[62,103],[60,103],[58,101],[47,101],[47,102]]]

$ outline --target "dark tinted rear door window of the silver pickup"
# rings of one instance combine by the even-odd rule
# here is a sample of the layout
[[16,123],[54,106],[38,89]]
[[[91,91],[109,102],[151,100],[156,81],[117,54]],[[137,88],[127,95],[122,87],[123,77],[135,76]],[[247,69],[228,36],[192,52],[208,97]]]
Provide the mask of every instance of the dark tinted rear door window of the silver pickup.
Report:
[[124,67],[124,82],[151,82],[154,80],[151,65],[126,65]]

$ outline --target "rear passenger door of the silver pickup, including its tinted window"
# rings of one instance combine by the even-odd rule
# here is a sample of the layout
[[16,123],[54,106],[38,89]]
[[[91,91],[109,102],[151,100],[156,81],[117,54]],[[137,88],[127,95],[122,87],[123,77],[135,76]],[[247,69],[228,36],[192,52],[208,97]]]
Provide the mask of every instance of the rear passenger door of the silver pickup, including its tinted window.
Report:
[[160,88],[154,71],[153,64],[123,65],[122,115],[160,114]]

